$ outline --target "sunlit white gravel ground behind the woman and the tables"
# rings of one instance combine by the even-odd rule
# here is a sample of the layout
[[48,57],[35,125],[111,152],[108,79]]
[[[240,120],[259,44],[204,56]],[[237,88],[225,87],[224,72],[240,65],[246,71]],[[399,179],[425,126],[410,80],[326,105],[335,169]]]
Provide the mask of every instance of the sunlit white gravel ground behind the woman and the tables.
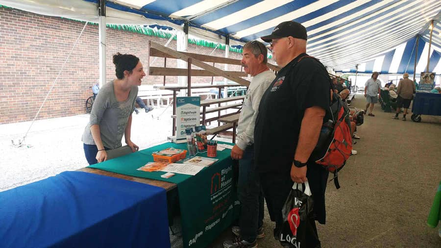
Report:
[[[132,141],[140,149],[166,142],[172,135],[172,108],[139,110],[133,115]],[[21,148],[11,146],[11,140],[22,139],[31,122],[0,125],[0,191],[86,167],[81,135],[88,121],[89,114],[38,120]]]

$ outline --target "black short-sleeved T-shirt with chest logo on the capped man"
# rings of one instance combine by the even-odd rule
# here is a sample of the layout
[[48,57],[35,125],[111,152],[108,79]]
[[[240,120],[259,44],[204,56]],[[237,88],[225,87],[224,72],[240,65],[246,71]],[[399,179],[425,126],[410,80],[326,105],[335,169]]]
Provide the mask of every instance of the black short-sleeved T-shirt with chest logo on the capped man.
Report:
[[305,109],[329,108],[330,79],[314,58],[300,57],[280,70],[262,96],[254,128],[255,163],[259,172],[291,169]]

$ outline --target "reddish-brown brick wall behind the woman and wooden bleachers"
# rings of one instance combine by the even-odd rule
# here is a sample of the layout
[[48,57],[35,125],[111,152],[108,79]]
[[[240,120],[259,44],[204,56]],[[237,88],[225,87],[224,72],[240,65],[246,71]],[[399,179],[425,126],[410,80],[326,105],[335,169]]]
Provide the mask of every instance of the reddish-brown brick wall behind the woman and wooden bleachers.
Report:
[[[32,120],[76,41],[84,23],[0,7],[0,124]],[[165,44],[167,39],[107,28],[107,80],[115,78],[112,55],[116,52],[138,56],[147,66],[147,42]],[[168,46],[176,49],[176,42]],[[189,44],[189,52],[210,54],[213,49]],[[240,59],[240,53],[230,52]],[[223,50],[213,55],[224,56]],[[163,66],[158,58],[152,66]],[[175,59],[167,59],[176,67]],[[223,69],[223,64],[216,67]],[[240,71],[240,66],[229,70]],[[223,77],[215,77],[222,81]],[[87,25],[38,119],[83,114],[90,86],[98,81],[98,25]],[[177,77],[167,76],[166,83]],[[193,77],[193,83],[211,82],[211,77]],[[162,84],[163,76],[149,76],[143,84]]]

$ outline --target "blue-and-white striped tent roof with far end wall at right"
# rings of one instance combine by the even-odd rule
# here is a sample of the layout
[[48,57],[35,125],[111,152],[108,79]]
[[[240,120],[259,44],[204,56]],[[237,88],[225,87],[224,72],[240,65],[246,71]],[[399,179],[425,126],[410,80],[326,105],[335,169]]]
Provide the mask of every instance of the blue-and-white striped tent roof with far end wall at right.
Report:
[[294,20],[308,31],[308,53],[324,65],[352,71],[364,64],[359,67],[367,73],[413,73],[418,34],[417,72],[424,70],[428,27],[435,20],[430,68],[439,68],[439,0],[119,0],[110,5],[175,25],[189,22],[239,42],[259,39],[279,23]]

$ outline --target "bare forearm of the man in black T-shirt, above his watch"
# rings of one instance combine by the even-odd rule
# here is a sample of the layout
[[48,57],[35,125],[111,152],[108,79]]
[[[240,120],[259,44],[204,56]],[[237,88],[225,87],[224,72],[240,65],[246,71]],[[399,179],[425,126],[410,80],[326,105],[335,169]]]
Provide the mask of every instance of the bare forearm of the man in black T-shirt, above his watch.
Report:
[[305,110],[294,159],[306,163],[317,145],[325,110],[314,106]]

